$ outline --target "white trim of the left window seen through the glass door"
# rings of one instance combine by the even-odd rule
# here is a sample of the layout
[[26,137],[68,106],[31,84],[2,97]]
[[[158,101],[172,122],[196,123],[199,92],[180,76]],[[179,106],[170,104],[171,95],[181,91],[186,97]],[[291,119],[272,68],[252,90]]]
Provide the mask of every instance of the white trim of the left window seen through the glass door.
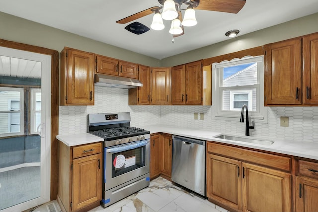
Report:
[[[0,111],[0,113],[20,113],[20,132],[16,133],[1,133],[0,137],[6,136],[19,136],[24,135],[24,89],[23,88],[15,88],[15,87],[1,87],[1,91],[18,91],[20,92],[20,99],[8,99],[9,103],[11,101],[20,101],[20,110],[19,111],[11,111],[11,107],[9,107],[7,111]],[[9,123],[8,123],[9,124]]]

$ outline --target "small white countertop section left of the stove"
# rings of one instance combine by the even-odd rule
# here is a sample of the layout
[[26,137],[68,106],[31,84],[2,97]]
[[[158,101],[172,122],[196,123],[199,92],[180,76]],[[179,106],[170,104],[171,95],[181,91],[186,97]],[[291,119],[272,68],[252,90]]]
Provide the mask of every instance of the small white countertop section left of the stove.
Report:
[[57,135],[56,138],[67,146],[77,146],[88,143],[104,141],[103,138],[94,136],[90,133],[79,133],[70,135]]

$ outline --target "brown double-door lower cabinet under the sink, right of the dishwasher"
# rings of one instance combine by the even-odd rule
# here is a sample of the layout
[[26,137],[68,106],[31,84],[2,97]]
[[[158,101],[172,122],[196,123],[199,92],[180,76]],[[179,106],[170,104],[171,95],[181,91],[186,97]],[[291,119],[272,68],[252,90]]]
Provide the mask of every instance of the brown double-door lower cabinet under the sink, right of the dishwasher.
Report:
[[[271,154],[212,142],[207,145],[207,197],[210,201],[243,212],[292,211],[290,170],[257,164],[267,161],[270,166]],[[234,152],[240,157],[235,158]],[[273,157],[281,167],[291,160],[278,155]]]

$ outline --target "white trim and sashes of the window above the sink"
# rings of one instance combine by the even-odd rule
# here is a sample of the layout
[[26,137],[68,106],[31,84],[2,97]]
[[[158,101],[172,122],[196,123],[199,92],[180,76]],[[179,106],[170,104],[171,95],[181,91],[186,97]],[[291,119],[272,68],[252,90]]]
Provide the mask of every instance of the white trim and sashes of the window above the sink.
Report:
[[258,62],[257,85],[239,86],[238,90],[251,89],[256,87],[256,111],[249,111],[249,117],[255,122],[268,123],[268,108],[264,106],[264,56],[245,56],[242,59],[235,58],[231,61],[222,61],[212,64],[212,118],[218,120],[237,121],[240,118],[240,111],[222,110],[222,92],[231,87],[219,87],[222,83],[220,72],[217,68],[239,65],[241,63]]

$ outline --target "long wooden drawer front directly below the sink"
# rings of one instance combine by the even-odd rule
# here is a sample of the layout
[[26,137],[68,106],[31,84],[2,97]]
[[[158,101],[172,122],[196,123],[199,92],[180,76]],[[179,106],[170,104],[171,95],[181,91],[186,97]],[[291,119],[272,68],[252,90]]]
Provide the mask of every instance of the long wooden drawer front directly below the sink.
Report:
[[291,171],[291,158],[289,157],[212,142],[208,142],[207,151],[212,154],[224,155],[229,158],[256,163],[259,165],[272,167],[274,169],[280,169],[288,172]]

